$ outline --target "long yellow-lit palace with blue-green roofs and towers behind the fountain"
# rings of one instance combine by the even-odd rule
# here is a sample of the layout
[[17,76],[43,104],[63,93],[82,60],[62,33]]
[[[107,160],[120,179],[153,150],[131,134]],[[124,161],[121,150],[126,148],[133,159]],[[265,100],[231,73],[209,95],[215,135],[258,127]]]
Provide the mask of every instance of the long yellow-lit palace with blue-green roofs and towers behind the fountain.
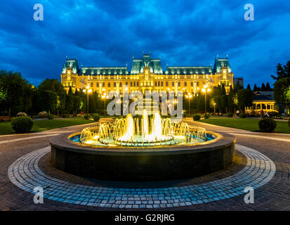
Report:
[[143,54],[143,58],[133,58],[131,71],[128,67],[81,67],[77,59],[68,59],[62,68],[61,83],[68,91],[84,89],[90,86],[99,94],[119,91],[123,86],[126,91],[183,91],[198,96],[204,86],[209,88],[225,85],[226,91],[234,85],[233,72],[227,58],[216,58],[214,66],[167,66],[162,70],[160,58],[151,58]]

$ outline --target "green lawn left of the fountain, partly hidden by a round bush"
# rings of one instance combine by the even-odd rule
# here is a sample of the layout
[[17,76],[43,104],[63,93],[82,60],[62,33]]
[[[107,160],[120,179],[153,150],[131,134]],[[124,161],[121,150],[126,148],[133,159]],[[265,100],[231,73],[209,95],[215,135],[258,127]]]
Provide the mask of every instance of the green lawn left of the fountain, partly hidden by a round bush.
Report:
[[[32,132],[45,131],[48,129],[55,129],[60,127],[69,127],[79,124],[90,124],[95,122],[93,120],[86,120],[84,118],[70,118],[61,120],[34,120]],[[11,128],[11,122],[0,122],[0,135],[15,134],[15,131]]]

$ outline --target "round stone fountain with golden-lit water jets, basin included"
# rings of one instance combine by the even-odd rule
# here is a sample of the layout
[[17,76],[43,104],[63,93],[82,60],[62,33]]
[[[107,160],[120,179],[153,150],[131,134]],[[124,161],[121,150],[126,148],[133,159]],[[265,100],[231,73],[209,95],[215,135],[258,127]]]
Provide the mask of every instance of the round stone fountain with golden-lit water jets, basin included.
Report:
[[202,176],[228,167],[235,136],[176,123],[159,113],[116,119],[51,139],[51,164],[95,179],[152,181]]

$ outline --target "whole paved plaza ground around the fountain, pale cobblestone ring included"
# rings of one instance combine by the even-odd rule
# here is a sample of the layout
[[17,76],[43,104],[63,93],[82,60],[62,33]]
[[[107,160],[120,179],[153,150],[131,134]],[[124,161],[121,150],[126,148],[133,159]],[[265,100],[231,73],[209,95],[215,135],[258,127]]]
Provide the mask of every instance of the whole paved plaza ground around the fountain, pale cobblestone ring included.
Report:
[[[88,186],[82,184],[84,178],[59,172],[66,177],[66,179],[59,179],[51,176],[53,173],[47,175],[50,172],[49,167],[46,169],[42,167],[42,164],[47,161],[44,159],[48,158],[46,151],[49,151],[49,148],[45,147],[48,146],[48,140],[52,135],[63,131],[79,131],[87,125],[54,129],[38,134],[0,136],[0,210],[118,210],[119,208],[140,210],[143,207],[144,210],[290,210],[289,135],[253,133],[196,123],[192,120],[187,122],[211,131],[226,131],[237,136],[237,149],[248,158],[247,165],[245,167],[234,165],[215,174],[175,183],[147,182],[146,188],[138,188],[139,184],[128,182],[115,184],[87,179],[86,182],[91,187],[87,188]],[[44,157],[41,158],[41,155]],[[19,158],[22,159],[18,160]],[[41,163],[39,166],[38,160]],[[16,184],[16,181],[21,178],[22,182],[19,183],[20,186],[22,185],[21,188],[29,187],[29,189],[23,191],[9,180],[9,167],[11,180]],[[55,171],[58,172],[56,169]],[[35,180],[20,175],[23,172],[30,173],[30,178]],[[271,179],[272,175],[274,176]],[[25,182],[29,181],[32,182],[29,185],[33,186],[39,182],[46,185],[44,193],[47,195],[44,204],[33,203],[33,194],[29,193],[33,191],[32,186],[25,187],[28,184]],[[91,183],[95,185],[92,186]],[[222,184],[222,186],[215,187],[215,184]],[[253,204],[244,203],[242,189],[245,185],[255,188]],[[69,187],[68,191],[71,191],[71,195],[63,187]],[[220,190],[216,191],[218,189]],[[55,193],[57,195],[54,195]],[[93,194],[93,198],[88,198],[93,196],[92,193],[96,194]],[[48,199],[49,195],[51,199]],[[84,195],[82,196],[84,199],[80,197],[81,195]],[[114,199],[110,199],[109,203],[110,197]],[[62,198],[68,203],[63,203]],[[77,201],[79,203],[76,203]],[[77,205],[81,203],[83,205]]]

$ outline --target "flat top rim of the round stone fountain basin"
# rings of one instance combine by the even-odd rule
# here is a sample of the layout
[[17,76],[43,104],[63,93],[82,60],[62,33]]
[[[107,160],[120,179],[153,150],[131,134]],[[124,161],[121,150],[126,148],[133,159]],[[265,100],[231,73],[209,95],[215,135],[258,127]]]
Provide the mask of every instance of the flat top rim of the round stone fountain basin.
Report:
[[180,154],[180,153],[192,153],[195,150],[196,153],[216,150],[220,147],[231,146],[235,143],[235,136],[223,132],[212,132],[206,131],[207,134],[212,134],[216,136],[216,139],[211,141],[206,141],[202,143],[195,143],[186,146],[150,146],[150,147],[126,147],[126,146],[91,146],[89,144],[78,143],[70,140],[71,136],[76,136],[81,134],[81,132],[75,132],[73,134],[60,134],[53,137],[50,140],[51,146],[72,151],[78,153],[86,154],[97,154],[97,155],[131,155],[138,153],[140,155],[144,154]]

